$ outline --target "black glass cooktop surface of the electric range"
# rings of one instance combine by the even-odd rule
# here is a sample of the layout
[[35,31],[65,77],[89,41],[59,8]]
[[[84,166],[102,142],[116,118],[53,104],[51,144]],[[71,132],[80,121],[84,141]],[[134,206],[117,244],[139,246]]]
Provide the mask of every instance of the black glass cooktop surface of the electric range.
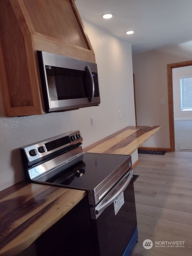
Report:
[[[95,194],[104,184],[116,176],[116,181],[121,178],[121,170],[126,166],[130,168],[129,155],[114,155],[114,154],[98,154],[84,153],[73,161],[70,161],[70,166],[63,165],[60,173],[46,179],[46,176],[41,177],[37,182],[48,182],[68,188],[76,188],[85,191],[90,191],[90,194]],[[125,168],[124,168],[125,169]]]

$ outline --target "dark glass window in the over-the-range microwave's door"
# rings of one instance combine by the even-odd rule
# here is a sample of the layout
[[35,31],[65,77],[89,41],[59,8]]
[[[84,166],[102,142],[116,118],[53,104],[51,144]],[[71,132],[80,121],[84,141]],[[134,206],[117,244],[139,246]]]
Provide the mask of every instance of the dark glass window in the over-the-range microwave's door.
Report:
[[51,101],[91,97],[88,71],[46,65],[46,76]]

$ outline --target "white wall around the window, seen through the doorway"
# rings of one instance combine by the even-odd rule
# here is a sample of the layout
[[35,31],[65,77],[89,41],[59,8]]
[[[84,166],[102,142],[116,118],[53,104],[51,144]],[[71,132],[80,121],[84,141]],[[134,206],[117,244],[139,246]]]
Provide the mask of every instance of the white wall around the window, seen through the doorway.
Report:
[[192,66],[173,68],[173,109],[174,120],[192,120],[192,111],[181,111],[180,78],[192,76]]

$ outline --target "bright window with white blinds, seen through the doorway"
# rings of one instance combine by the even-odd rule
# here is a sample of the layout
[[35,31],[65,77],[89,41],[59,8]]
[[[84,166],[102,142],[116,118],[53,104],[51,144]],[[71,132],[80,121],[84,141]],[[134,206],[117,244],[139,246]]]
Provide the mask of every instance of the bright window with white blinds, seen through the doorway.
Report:
[[181,86],[181,110],[192,110],[192,76],[182,77]]

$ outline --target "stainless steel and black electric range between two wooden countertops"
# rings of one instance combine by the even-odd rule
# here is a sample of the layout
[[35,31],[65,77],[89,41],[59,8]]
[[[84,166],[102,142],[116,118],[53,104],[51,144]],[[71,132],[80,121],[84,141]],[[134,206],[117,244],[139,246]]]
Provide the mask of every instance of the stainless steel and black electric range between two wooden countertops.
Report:
[[38,255],[128,256],[138,239],[131,156],[81,145],[71,131],[21,148],[26,181],[86,191],[37,239]]

